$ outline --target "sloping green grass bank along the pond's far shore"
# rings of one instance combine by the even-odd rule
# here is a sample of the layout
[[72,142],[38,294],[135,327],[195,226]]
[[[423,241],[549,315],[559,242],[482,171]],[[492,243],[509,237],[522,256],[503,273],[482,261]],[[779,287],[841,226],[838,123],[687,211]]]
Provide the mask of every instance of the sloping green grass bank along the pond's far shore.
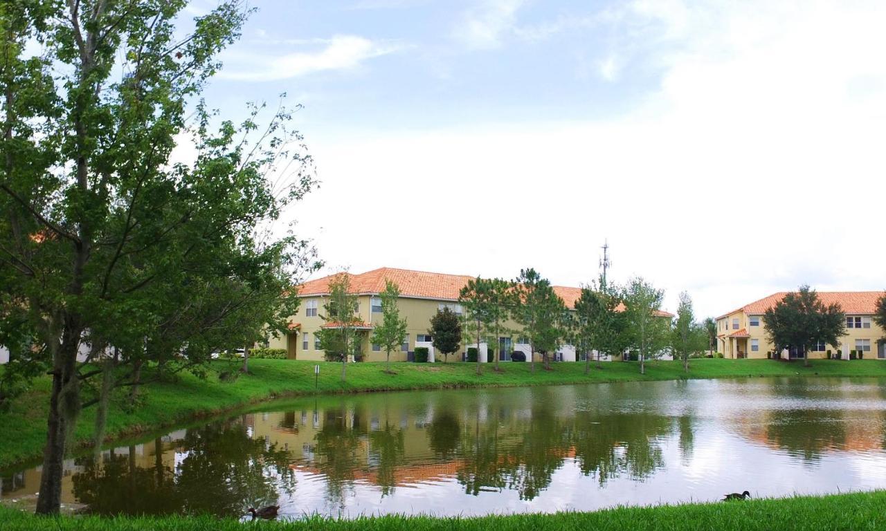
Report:
[[[396,374],[385,373],[384,364],[350,364],[347,381],[340,381],[341,366],[320,363],[320,377],[315,391],[315,362],[282,359],[250,361],[251,373],[231,383],[220,382],[215,373],[206,380],[182,374],[176,381],[152,384],[144,389],[142,404],[135,411],[124,412],[113,404],[108,415],[106,434],[110,440],[182,424],[189,420],[231,411],[278,396],[319,393],[351,393],[394,389],[447,389],[485,386],[525,386],[611,381],[657,381],[686,378],[747,378],[759,376],[879,376],[886,377],[886,363],[874,359],[837,361],[813,360],[811,367],[802,362],[785,363],[768,359],[696,359],[689,373],[680,362],[657,361],[647,364],[641,375],[636,362],[604,363],[584,374],[582,363],[554,364],[544,371],[540,365],[530,372],[529,364],[502,364],[503,372],[494,373],[492,365],[477,375],[476,365],[466,363],[414,364],[394,363]],[[228,370],[225,362],[215,369]],[[46,437],[46,416],[50,381],[41,378],[33,389],[12,404],[9,412],[0,413],[0,469],[34,462],[40,458]],[[74,431],[74,446],[88,446],[93,440],[94,408],[83,412]]]

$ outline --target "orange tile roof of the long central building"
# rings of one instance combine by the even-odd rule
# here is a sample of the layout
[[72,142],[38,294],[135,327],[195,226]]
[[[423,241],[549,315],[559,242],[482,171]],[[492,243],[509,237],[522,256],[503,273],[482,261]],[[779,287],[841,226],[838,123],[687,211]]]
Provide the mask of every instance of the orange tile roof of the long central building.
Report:
[[[336,275],[331,274],[314,281],[307,281],[299,289],[299,296],[326,295],[329,293],[330,280]],[[400,287],[400,295],[429,298],[440,301],[457,301],[458,292],[468,281],[474,279],[470,275],[428,273],[409,269],[381,267],[367,273],[351,274],[351,291],[359,295],[377,295],[385,289],[385,280],[391,280]],[[581,296],[580,288],[554,286],[554,293],[563,299],[568,308],[574,308]],[[622,306],[621,311],[624,311]],[[658,312],[660,317],[673,317],[672,313]]]

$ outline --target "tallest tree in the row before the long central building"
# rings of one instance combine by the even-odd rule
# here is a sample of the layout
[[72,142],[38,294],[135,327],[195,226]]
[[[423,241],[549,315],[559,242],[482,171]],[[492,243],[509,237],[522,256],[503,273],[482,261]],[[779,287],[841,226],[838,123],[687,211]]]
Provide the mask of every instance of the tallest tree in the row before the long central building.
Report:
[[529,339],[532,372],[535,372],[536,351],[541,353],[545,369],[550,369],[548,355],[560,344],[566,306],[554,292],[550,281],[532,268],[520,270],[514,284],[512,317]]

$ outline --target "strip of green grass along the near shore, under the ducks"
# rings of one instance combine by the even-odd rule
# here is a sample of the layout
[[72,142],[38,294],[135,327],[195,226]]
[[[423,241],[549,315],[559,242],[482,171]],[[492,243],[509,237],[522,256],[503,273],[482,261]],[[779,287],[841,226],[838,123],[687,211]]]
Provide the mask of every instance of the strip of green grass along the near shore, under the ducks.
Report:
[[[241,530],[244,524],[233,519],[207,517],[144,518],[41,518],[0,507],[4,531],[203,531]],[[619,507],[598,512],[560,512],[480,518],[433,518],[426,516],[383,516],[354,520],[306,518],[290,522],[250,522],[249,528],[268,530],[311,529],[350,531],[356,529],[437,529],[496,531],[547,529],[605,529],[642,531],[646,529],[726,529],[735,531],[781,531],[886,528],[886,491],[859,492],[835,496],[796,496],[744,502]]]

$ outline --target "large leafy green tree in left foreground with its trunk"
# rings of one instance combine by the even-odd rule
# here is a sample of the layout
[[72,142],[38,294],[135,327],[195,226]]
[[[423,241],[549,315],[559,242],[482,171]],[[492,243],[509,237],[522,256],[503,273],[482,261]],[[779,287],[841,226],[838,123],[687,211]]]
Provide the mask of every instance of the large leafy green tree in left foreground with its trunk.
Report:
[[[286,125],[290,112],[280,107],[259,128],[261,104],[235,123],[200,99],[249,10],[221,1],[190,24],[185,6],[81,0],[0,9],[0,293],[21,309],[0,319],[25,319],[26,337],[12,338],[16,355],[51,374],[39,513],[58,512],[67,435],[90,378],[102,373],[78,361],[82,343],[95,361],[113,340],[130,376],[136,362],[159,355],[205,363],[210,327],[201,341],[146,346],[146,329],[189,312],[192,301],[176,294],[230,286],[245,298],[191,319],[233,321],[275,304],[257,296],[256,279],[299,283],[291,267],[304,256],[299,242],[261,230],[315,182],[309,158],[292,149],[301,137]],[[29,42],[43,43],[41,56]],[[193,161],[175,162],[177,143],[193,148]]]

